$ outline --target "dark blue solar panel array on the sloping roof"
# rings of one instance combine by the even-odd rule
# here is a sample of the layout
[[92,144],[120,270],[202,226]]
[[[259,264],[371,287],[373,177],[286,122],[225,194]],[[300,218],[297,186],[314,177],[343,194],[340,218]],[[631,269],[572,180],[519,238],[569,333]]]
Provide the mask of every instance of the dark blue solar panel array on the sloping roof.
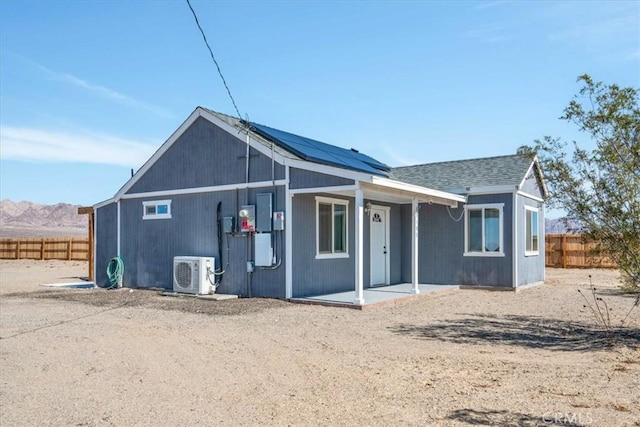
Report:
[[355,150],[336,147],[256,123],[252,123],[251,126],[259,135],[310,162],[382,176],[388,176],[391,170],[384,163]]

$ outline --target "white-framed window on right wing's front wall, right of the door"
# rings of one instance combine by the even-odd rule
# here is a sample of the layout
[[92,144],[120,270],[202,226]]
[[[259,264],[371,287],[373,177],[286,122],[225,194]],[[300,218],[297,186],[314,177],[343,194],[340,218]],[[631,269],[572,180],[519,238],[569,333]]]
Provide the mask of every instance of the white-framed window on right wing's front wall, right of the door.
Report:
[[465,256],[504,256],[504,204],[465,206]]

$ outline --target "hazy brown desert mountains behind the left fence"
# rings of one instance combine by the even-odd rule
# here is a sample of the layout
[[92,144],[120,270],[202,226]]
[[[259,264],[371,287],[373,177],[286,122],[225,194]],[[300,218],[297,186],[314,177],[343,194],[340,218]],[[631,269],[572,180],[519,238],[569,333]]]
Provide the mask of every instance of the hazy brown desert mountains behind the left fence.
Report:
[[0,201],[0,237],[86,237],[87,216],[77,205]]

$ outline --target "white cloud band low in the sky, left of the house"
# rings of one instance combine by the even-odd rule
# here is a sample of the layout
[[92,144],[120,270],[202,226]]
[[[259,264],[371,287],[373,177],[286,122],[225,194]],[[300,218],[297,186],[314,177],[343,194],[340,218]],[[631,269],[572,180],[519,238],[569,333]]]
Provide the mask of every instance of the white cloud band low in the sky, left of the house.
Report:
[[157,148],[111,135],[0,125],[0,157],[7,160],[140,167]]

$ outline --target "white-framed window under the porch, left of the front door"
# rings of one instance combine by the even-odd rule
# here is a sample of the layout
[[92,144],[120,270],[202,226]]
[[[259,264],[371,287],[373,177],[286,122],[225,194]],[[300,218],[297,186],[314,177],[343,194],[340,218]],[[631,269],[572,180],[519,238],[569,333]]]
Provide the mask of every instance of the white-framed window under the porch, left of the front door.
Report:
[[347,200],[316,197],[316,258],[347,258]]

